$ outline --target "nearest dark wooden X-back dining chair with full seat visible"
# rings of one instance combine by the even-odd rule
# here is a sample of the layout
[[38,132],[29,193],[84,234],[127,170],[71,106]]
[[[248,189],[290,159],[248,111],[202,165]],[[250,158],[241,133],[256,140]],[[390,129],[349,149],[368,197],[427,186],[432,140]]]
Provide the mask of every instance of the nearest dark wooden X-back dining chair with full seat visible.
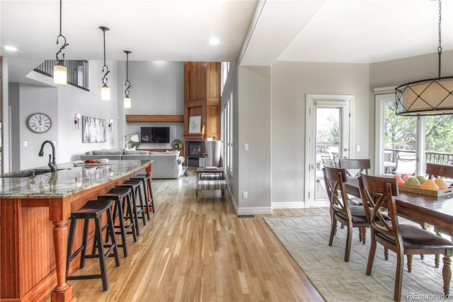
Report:
[[371,274],[377,243],[396,252],[394,300],[400,301],[404,255],[408,257],[408,271],[411,272],[410,264],[413,255],[443,254],[444,293],[449,294],[449,282],[451,279],[450,257],[452,256],[453,243],[425,231],[423,228],[399,223],[395,200],[392,198],[398,195],[398,183],[395,178],[382,178],[362,174],[360,176],[360,185],[362,186],[362,193],[366,195],[367,202],[372,205],[369,211],[371,245],[369,247],[366,274]]

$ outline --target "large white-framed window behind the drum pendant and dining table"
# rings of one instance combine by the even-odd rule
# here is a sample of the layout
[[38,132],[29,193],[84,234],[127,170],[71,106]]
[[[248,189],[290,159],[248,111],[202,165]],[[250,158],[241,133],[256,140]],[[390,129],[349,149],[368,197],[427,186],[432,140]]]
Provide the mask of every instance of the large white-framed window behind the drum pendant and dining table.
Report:
[[425,175],[426,163],[453,165],[453,115],[395,115],[394,93],[376,95],[376,170]]

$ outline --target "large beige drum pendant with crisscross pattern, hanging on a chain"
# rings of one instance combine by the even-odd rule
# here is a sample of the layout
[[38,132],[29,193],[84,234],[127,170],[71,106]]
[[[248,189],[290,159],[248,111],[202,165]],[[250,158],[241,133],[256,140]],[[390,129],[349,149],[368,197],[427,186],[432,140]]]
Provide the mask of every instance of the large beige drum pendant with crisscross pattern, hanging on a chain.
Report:
[[442,0],[439,1],[439,74],[435,79],[406,83],[395,88],[396,115],[453,114],[453,76],[440,76]]

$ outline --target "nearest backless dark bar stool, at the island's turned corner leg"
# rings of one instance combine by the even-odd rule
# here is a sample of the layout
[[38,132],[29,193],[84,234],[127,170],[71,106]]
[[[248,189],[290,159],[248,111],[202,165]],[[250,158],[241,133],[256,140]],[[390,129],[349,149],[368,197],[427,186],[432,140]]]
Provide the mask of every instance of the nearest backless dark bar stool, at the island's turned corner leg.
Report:
[[[116,240],[114,236],[113,230],[113,219],[112,219],[112,201],[111,200],[90,200],[88,201],[84,207],[73,211],[71,213],[71,226],[69,228],[69,237],[68,237],[68,246],[67,246],[67,262],[66,262],[66,279],[67,280],[75,280],[75,279],[102,279],[102,288],[103,291],[108,291],[108,281],[107,281],[107,270],[105,266],[105,259],[110,256],[113,252],[115,255],[115,264],[117,267],[120,266],[120,257],[118,256],[118,249],[116,245]],[[112,240],[112,245],[108,248],[106,252],[104,252],[103,241],[102,241],[102,233],[101,230],[103,226],[101,226],[101,216],[103,213],[107,213],[107,227],[110,231],[110,240]],[[74,254],[71,254],[72,245],[74,244],[74,231],[76,229],[76,223],[78,219],[84,219],[84,236],[82,239],[82,244],[79,249],[77,249]],[[88,226],[90,219],[94,219],[95,222],[95,238],[98,242],[98,253],[86,255],[86,248],[88,244],[87,236],[88,236]],[[80,268],[83,269],[85,267],[85,258],[98,258],[99,265],[101,266],[101,274],[88,274],[88,275],[76,275],[76,276],[68,276],[69,274],[69,264],[74,257],[79,255],[80,257]]]

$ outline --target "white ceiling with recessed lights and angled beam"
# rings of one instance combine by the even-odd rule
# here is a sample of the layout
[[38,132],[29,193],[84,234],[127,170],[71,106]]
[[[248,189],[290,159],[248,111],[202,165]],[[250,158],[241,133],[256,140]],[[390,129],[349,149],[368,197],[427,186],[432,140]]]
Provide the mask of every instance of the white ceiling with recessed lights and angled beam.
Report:
[[[1,0],[10,81],[54,59],[59,0]],[[63,0],[67,59],[372,63],[437,52],[432,0]],[[442,48],[453,50],[453,0],[442,2]],[[211,46],[210,37],[220,44]],[[4,46],[13,45],[17,52]],[[242,51],[241,51],[242,48]],[[21,64],[19,64],[21,63]],[[25,63],[25,64],[24,64]],[[30,66],[28,66],[30,65]],[[17,78],[17,79],[16,79]]]

